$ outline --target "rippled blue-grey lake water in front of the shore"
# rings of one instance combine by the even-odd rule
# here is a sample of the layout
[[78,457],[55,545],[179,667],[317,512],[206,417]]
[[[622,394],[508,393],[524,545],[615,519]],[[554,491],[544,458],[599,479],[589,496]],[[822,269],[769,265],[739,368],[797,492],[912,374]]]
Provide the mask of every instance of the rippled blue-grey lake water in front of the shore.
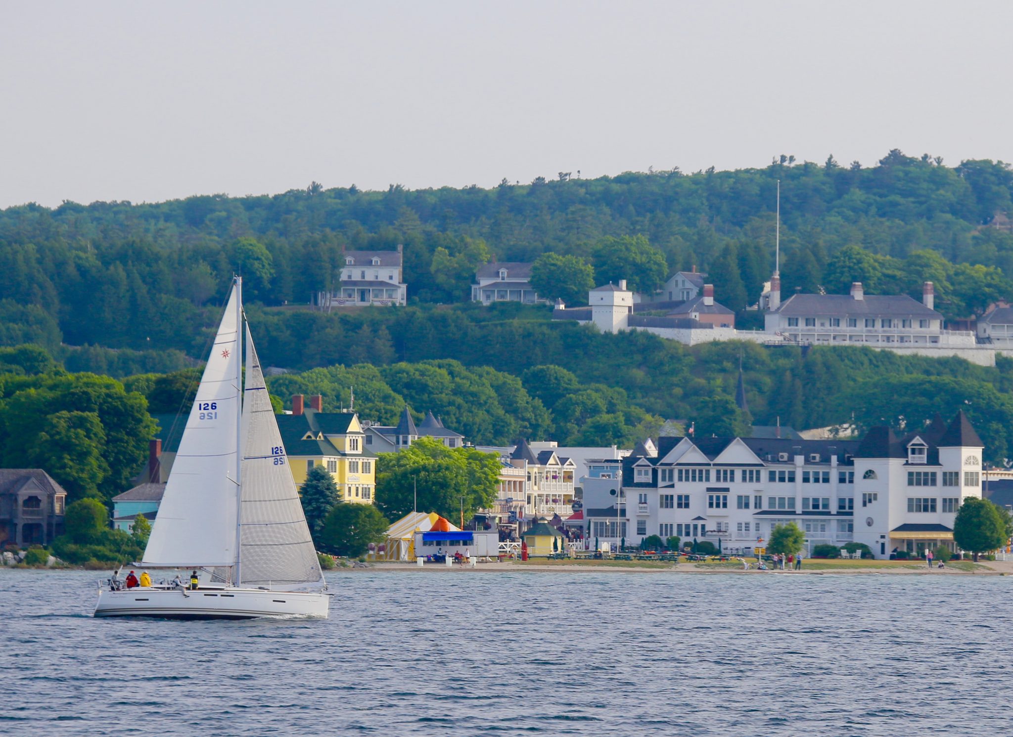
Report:
[[99,575],[0,571],[0,734],[1013,734],[1013,577],[367,571],[163,622]]

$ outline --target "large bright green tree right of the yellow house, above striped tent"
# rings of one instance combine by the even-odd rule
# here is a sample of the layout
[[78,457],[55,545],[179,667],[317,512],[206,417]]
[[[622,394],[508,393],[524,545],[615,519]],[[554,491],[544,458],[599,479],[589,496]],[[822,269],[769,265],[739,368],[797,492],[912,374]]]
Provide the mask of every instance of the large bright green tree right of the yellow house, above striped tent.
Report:
[[380,455],[377,504],[391,519],[399,519],[414,508],[417,488],[419,511],[458,519],[463,504],[467,520],[476,509],[492,504],[498,478],[495,454],[473,447],[451,448],[422,437],[399,453]]

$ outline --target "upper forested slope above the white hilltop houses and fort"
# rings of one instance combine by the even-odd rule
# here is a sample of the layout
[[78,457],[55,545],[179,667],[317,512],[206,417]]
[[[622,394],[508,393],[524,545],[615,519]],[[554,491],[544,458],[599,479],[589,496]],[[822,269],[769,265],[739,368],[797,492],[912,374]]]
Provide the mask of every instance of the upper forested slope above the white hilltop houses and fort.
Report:
[[773,269],[778,179],[787,294],[853,278],[870,293],[915,292],[932,278],[947,316],[963,317],[1008,292],[1013,234],[990,225],[1013,212],[1013,170],[892,151],[864,168],[785,157],[765,169],[563,173],[492,189],[314,183],[275,196],[11,208],[0,212],[0,341],[197,355],[233,271],[248,301],[306,303],[333,283],[342,247],[398,243],[413,304],[464,300],[487,258],[555,252],[589,260],[599,280],[645,289],[695,264],[741,310]]

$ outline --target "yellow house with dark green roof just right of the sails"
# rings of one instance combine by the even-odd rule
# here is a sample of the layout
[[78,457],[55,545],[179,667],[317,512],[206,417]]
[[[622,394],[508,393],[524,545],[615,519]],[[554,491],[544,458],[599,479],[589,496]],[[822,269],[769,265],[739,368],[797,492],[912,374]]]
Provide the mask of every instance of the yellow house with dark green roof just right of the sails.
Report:
[[342,501],[372,504],[376,498],[376,456],[365,449],[366,433],[355,412],[324,412],[320,395],[292,398],[292,414],[277,415],[296,486],[323,466]]

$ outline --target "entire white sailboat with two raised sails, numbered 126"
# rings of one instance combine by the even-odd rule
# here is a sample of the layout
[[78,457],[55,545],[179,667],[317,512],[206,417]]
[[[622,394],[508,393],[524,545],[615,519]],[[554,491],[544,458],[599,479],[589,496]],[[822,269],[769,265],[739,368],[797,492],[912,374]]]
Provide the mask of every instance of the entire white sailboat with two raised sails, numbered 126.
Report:
[[[236,276],[137,564],[199,584],[100,589],[95,617],[327,617],[329,595],[289,469]],[[243,383],[242,338],[246,338]]]

